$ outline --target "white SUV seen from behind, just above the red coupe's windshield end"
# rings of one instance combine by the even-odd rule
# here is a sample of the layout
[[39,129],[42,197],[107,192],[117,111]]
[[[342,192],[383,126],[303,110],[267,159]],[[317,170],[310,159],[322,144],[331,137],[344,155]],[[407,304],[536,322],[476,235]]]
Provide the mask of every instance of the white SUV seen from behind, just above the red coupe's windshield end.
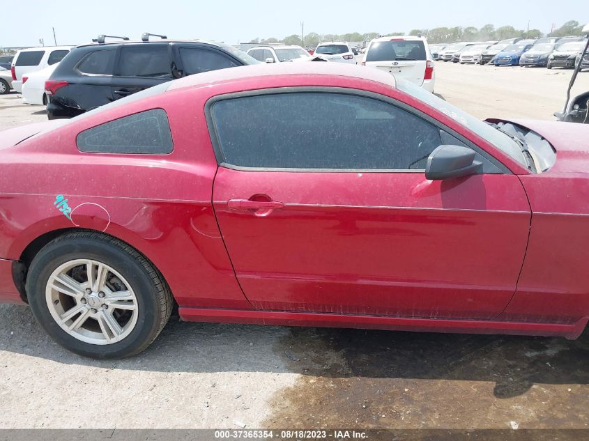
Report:
[[362,65],[389,72],[434,92],[436,75],[427,40],[415,36],[381,37],[370,42]]

